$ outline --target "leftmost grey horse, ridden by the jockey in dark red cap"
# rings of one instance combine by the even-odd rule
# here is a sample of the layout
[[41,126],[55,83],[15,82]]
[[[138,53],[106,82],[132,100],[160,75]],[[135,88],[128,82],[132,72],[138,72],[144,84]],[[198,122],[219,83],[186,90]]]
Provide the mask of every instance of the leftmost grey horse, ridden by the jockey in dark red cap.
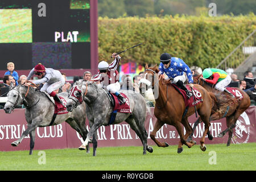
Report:
[[[63,97],[66,101],[68,99],[68,93],[60,93],[59,96]],[[58,125],[63,121],[69,123],[69,125],[75,129],[82,137],[86,139],[88,131],[86,130],[85,121],[85,104],[81,104],[72,112],[67,114],[56,115],[55,121],[52,123],[52,118],[55,110],[55,105],[48,98],[46,93],[40,92],[31,86],[18,85],[11,89],[7,94],[7,102],[5,107],[5,113],[10,114],[14,107],[20,104],[26,106],[25,118],[28,123],[27,129],[22,133],[22,136],[11,143],[12,146],[18,146],[22,142],[23,138],[30,134],[30,155],[35,144],[35,129],[36,127],[46,127],[51,125]],[[89,152],[89,146],[86,148]]]

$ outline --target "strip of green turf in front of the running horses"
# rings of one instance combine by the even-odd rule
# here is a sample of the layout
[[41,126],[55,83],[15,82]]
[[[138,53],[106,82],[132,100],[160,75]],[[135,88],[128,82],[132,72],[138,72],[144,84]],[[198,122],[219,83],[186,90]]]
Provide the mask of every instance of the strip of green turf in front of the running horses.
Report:
[[[256,143],[208,144],[207,151],[199,145],[183,147],[177,154],[177,146],[159,148],[152,146],[154,152],[142,155],[142,147],[98,147],[97,156],[92,156],[77,148],[44,150],[45,158],[34,151],[0,152],[0,171],[35,170],[35,171],[212,171],[256,169]],[[212,155],[216,154],[216,155]],[[214,164],[213,157],[216,156]],[[45,159],[45,160],[42,160]],[[212,163],[212,164],[210,164]]]

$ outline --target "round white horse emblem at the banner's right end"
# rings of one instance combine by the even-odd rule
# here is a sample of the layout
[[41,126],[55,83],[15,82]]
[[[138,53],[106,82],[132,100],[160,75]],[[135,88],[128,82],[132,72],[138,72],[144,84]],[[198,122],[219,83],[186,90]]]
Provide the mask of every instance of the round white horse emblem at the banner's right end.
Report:
[[234,127],[232,142],[234,144],[247,143],[250,138],[250,119],[248,115],[243,112],[237,119],[236,127]]

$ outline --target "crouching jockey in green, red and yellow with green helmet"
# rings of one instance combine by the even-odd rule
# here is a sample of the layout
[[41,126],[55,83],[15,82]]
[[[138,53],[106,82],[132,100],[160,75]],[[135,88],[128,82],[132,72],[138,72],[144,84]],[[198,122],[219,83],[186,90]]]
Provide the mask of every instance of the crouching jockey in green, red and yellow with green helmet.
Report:
[[204,69],[202,76],[203,80],[205,80],[206,82],[213,85],[216,84],[214,86],[215,89],[219,90],[220,92],[225,91],[230,94],[230,96],[234,97],[232,93],[225,89],[225,86],[228,86],[232,80],[228,73],[226,73],[222,69],[206,68]]

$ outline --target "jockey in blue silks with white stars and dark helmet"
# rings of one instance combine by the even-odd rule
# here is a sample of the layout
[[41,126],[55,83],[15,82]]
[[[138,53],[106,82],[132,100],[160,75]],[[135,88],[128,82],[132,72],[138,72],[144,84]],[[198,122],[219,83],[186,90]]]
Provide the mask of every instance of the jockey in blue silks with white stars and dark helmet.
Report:
[[163,75],[163,73],[166,73],[169,78],[173,78],[172,83],[175,83],[179,88],[183,89],[187,97],[190,98],[192,93],[184,85],[186,76],[183,73],[187,73],[189,86],[193,87],[192,73],[188,65],[180,58],[171,57],[168,53],[162,53],[160,62],[159,74]]

